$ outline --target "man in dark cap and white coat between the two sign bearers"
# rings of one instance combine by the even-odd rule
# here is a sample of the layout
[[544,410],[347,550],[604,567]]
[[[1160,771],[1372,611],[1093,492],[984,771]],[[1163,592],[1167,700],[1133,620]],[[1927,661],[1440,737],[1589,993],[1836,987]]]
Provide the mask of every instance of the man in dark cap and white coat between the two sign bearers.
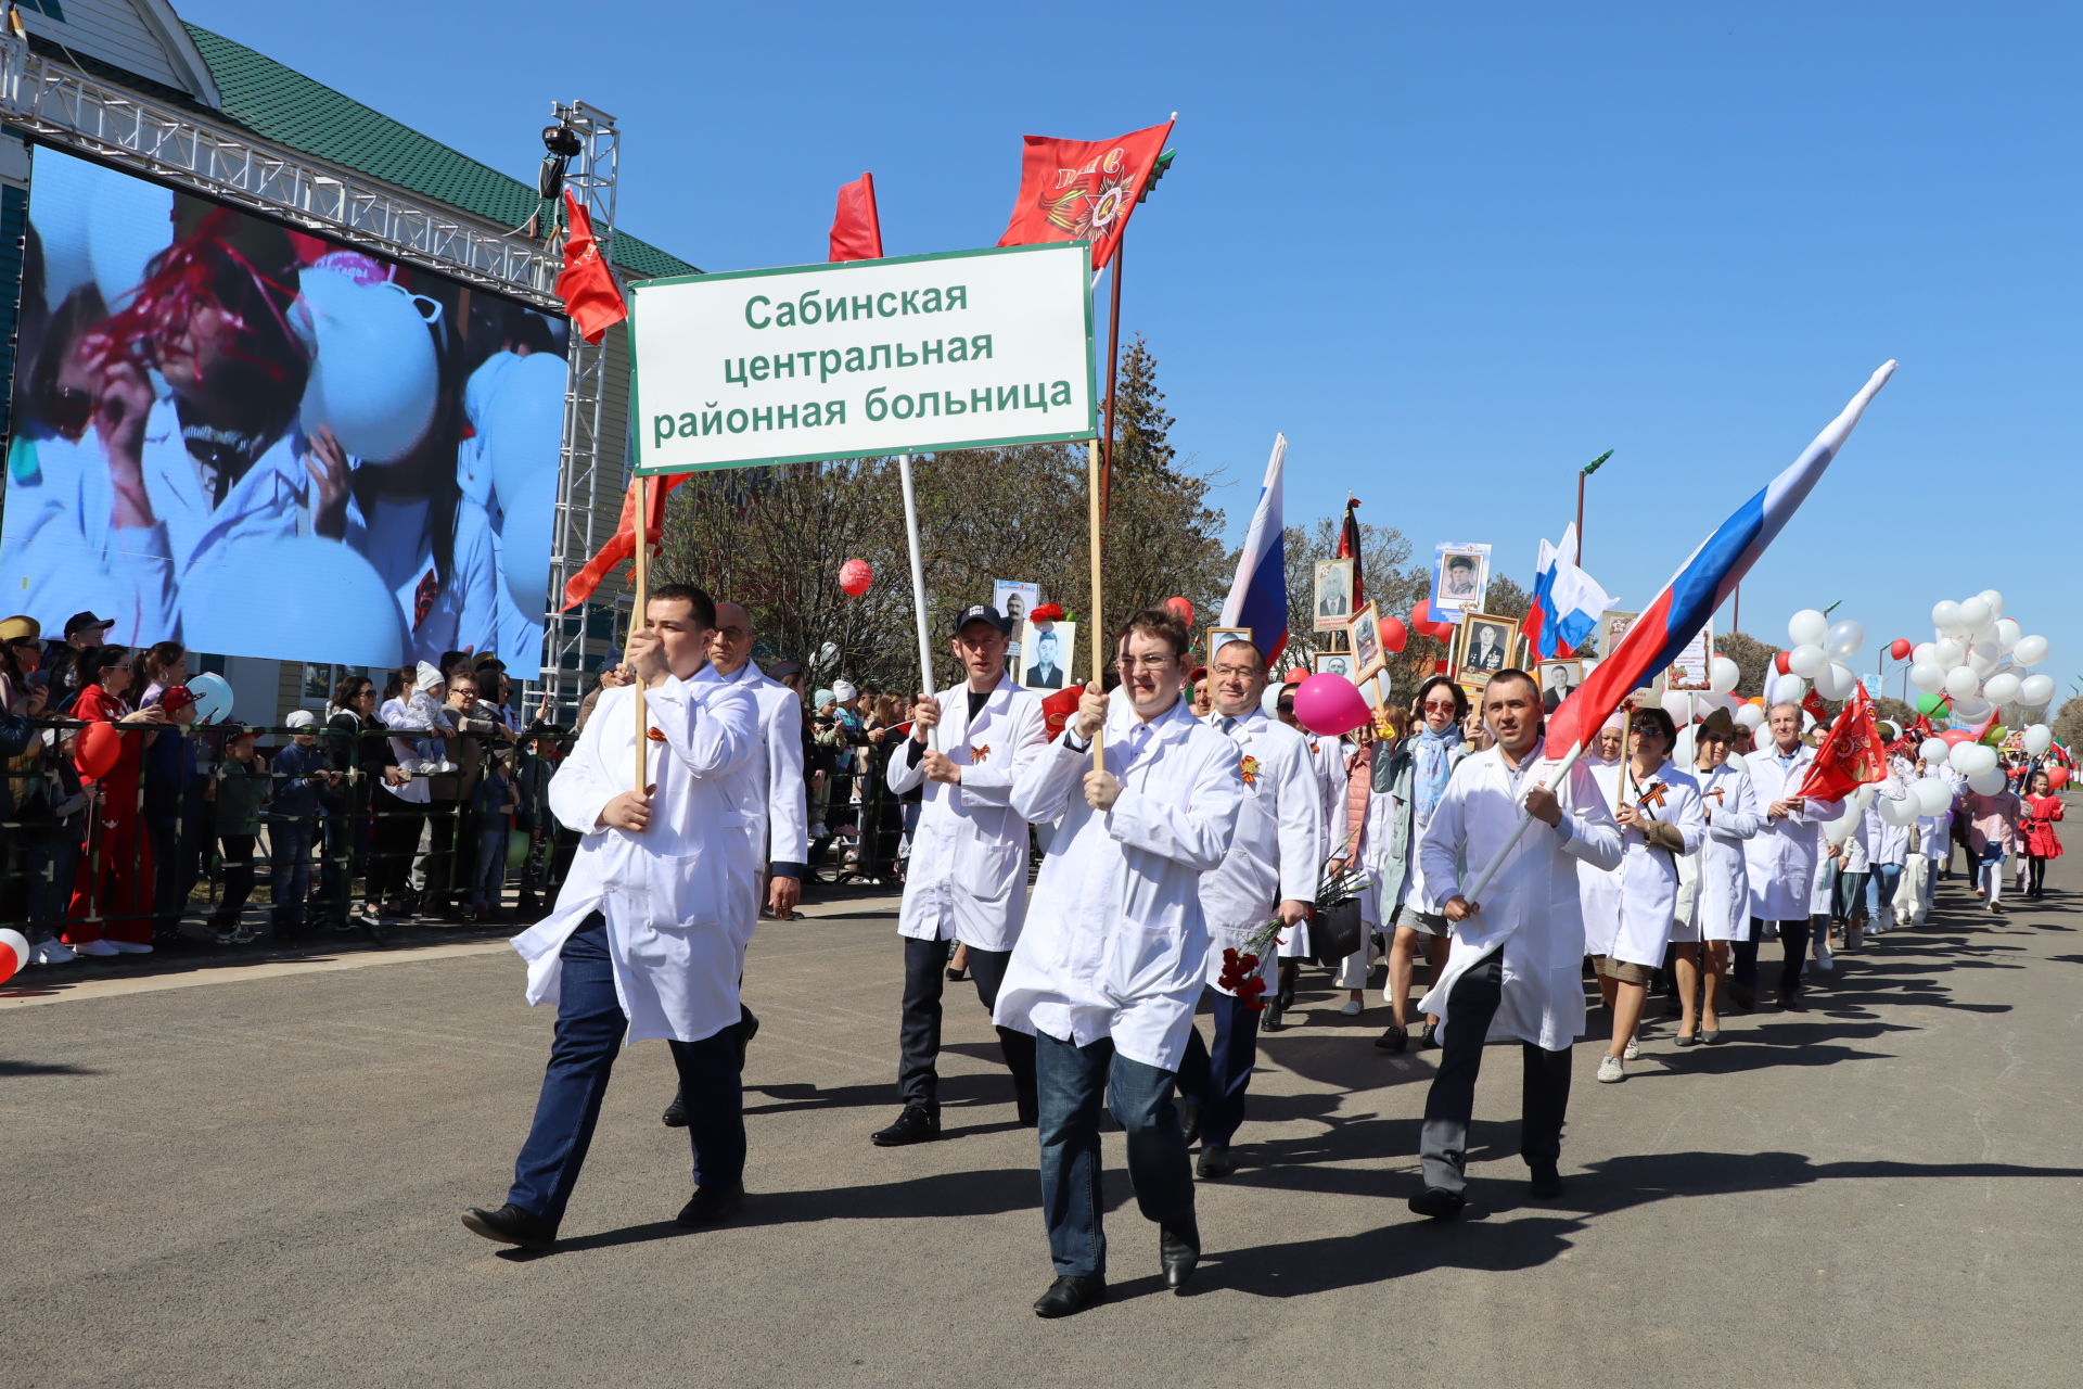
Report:
[[[1027,820],[1012,785],[1048,748],[1042,700],[1006,675],[1010,623],[989,604],[954,618],[954,658],[967,679],[912,706],[912,735],[889,758],[889,789],[925,787],[898,935],[904,937],[902,1062],[896,1120],[877,1129],[877,1147],[939,1137],[939,1000],[948,943],[969,945],[969,970],[983,1008],[998,1006],[1012,943],[1027,920]],[[1023,1125],[1035,1122],[1035,1039],[998,1029]]]

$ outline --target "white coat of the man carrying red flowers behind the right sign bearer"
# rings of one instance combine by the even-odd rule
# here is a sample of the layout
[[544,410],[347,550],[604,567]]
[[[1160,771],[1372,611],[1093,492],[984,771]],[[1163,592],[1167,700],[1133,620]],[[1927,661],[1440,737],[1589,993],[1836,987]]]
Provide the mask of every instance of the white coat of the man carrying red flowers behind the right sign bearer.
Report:
[[[1223,714],[1210,714],[1208,727],[1223,733]],[[1310,766],[1308,741],[1256,708],[1239,714],[1223,737],[1237,746],[1244,793],[1229,852],[1200,879],[1210,985],[1223,975],[1223,950],[1241,952],[1246,937],[1273,920],[1283,900],[1316,900],[1323,866],[1321,783]],[[1271,973],[1275,958],[1266,950],[1260,973]]]

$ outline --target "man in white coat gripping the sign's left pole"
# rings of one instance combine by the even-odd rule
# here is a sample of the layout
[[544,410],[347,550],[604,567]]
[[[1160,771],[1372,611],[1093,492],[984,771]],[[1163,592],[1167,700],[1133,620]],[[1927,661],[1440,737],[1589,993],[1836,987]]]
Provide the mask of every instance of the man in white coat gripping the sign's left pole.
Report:
[[717,625],[708,594],[660,585],[644,616],[627,654],[646,687],[644,739],[635,687],[602,693],[550,781],[550,810],[583,833],[579,854],[556,910],[515,937],[527,1000],[558,1006],[556,1041],[506,1204],[462,1222],[525,1249],[556,1241],[625,1035],[667,1039],[687,1095],[696,1191],[679,1222],[727,1220],[746,1195],[737,979],[758,912],[758,843],[731,779],[758,756],[758,706],[742,685],[694,679]]

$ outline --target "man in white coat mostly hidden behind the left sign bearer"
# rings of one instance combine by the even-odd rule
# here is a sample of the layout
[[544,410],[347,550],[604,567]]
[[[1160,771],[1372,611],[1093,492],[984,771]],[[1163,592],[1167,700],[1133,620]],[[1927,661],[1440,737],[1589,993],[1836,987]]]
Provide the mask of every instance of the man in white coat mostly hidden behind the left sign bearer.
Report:
[[[752,660],[758,633],[752,614],[733,602],[717,604],[717,627],[708,635],[708,664],[696,681],[742,685],[760,712],[760,746],[739,771],[737,812],[752,827],[752,839],[764,845],[764,904],[781,920],[802,902],[802,875],[810,858],[808,783],[802,777],[802,700],[781,681],[769,679]],[[737,1054],[752,1045],[760,1020],[739,1000]],[[687,1125],[687,1097],[675,1093],[664,1110],[667,1129]]]

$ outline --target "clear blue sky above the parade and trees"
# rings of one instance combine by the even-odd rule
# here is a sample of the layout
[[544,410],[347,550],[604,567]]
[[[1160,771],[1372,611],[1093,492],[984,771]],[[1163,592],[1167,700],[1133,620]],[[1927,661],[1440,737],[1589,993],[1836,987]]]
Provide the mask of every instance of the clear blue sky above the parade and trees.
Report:
[[625,131],[623,225],[714,271],[823,260],[862,169],[892,254],[989,246],[1019,135],[1179,110],[1123,325],[1233,533],[1285,431],[1289,521],[1350,487],[1527,583],[1612,448],[1585,564],[1641,606],[1900,358],[1746,631],[1841,600],[1871,668],[1998,587],[2062,693],[2083,671],[2077,6],[179,10],[519,177],[585,98]]

